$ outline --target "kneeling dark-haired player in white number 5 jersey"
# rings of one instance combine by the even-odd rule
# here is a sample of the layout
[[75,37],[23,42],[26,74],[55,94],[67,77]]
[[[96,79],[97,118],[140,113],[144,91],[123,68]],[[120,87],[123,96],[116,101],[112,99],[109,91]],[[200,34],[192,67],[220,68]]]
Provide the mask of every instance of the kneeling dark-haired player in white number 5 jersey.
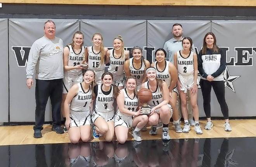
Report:
[[95,109],[92,114],[93,137],[99,138],[99,133],[104,136],[106,141],[112,141],[114,137],[114,99],[119,95],[119,89],[113,85],[113,75],[110,72],[104,72],[101,77],[101,85],[96,85]]

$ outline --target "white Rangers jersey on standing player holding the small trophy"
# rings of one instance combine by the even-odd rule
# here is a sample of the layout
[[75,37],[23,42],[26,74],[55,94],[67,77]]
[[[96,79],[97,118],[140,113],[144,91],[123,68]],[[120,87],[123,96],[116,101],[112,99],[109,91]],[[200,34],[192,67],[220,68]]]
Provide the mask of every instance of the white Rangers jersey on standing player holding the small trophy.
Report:
[[[68,66],[76,66],[80,65],[83,63],[83,56],[85,55],[85,47],[82,46],[80,53],[76,54],[74,52],[74,49],[72,48],[71,45],[67,45],[69,48],[69,55],[68,55],[68,60],[67,60],[67,65]],[[82,73],[82,70],[80,69],[74,69],[74,70],[69,70],[64,72],[64,75],[69,76],[69,77],[74,77],[78,76]]]

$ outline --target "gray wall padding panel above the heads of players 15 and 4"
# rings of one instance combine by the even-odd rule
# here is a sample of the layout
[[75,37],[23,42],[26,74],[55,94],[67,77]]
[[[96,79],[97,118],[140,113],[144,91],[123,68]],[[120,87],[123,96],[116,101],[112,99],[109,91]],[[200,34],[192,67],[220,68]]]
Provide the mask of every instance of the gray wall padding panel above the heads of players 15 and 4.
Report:
[[[147,46],[146,20],[81,20],[81,32],[85,36],[85,46],[92,46],[92,36],[99,32],[103,36],[104,46],[113,48],[114,37],[120,35],[125,47]],[[146,51],[144,51],[145,55]]]

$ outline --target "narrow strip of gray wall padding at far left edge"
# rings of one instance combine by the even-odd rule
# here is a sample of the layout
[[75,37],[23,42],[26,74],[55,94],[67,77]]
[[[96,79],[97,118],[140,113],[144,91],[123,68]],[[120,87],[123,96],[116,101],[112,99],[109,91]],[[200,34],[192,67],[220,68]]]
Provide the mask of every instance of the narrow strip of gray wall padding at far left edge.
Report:
[[8,122],[8,19],[0,19],[0,76],[2,78],[0,85],[0,122]]

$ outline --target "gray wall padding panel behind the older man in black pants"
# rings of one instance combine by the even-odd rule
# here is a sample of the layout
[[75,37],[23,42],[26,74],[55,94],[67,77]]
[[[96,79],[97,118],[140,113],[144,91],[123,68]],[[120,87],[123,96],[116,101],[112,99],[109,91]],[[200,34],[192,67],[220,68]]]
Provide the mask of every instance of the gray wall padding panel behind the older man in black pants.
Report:
[[[35,84],[30,90],[26,87],[25,59],[32,43],[43,36],[43,24],[46,20],[9,20],[10,122],[35,121]],[[64,44],[71,43],[74,32],[79,30],[79,20],[56,19],[54,22],[56,36],[60,37]],[[52,120],[50,111],[48,100],[45,121]]]

